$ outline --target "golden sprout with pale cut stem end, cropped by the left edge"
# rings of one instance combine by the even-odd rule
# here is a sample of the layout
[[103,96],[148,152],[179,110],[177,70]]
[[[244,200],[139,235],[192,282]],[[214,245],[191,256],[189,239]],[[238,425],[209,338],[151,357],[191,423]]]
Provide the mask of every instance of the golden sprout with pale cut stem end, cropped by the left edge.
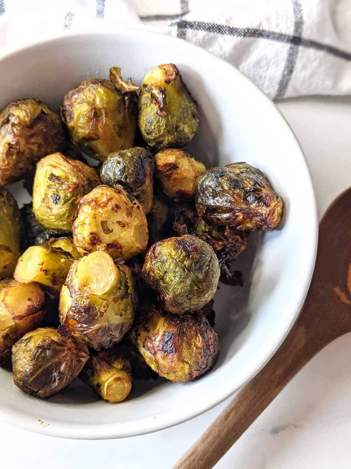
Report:
[[44,292],[37,283],[0,281],[0,365],[11,359],[18,339],[41,325],[44,315]]

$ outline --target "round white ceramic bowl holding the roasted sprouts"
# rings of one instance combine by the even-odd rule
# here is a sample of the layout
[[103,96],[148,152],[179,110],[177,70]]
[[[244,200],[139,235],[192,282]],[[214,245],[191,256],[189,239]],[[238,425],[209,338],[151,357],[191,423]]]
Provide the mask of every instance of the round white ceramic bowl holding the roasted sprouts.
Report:
[[[0,370],[0,418],[46,435],[105,439],[179,424],[223,401],[269,360],[297,318],[310,283],[317,216],[310,174],[300,146],[274,104],[231,65],[180,39],[132,29],[63,35],[0,60],[0,108],[11,99],[40,98],[57,109],[88,77],[107,77],[117,65],[141,84],[160,63],[175,63],[200,107],[190,153],[207,167],[247,161],[268,175],[283,197],[278,229],[253,236],[237,263],[245,285],[215,295],[221,351],[215,368],[194,383],[166,380],[136,385],[111,405],[76,380],[47,401],[17,389]],[[11,186],[22,202],[21,184]],[[28,197],[27,197],[28,198]],[[39,421],[40,419],[40,421]]]

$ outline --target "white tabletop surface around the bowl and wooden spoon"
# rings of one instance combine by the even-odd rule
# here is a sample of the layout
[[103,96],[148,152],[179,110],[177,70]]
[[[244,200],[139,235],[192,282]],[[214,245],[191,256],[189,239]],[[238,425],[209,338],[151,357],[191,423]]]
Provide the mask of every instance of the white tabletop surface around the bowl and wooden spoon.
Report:
[[[351,97],[301,98],[278,107],[305,151],[321,218],[329,203],[351,186]],[[291,165],[293,171],[293,161]],[[216,469],[350,468],[350,345],[347,334],[314,357]],[[120,440],[55,439],[0,422],[1,467],[171,468],[225,405],[171,429]]]

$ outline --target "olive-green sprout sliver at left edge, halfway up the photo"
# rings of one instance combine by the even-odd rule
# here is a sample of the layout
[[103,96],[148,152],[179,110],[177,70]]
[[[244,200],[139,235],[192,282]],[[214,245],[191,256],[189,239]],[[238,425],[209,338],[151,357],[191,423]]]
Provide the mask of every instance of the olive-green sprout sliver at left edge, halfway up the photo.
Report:
[[19,250],[20,212],[10,192],[0,187],[0,279],[13,274]]

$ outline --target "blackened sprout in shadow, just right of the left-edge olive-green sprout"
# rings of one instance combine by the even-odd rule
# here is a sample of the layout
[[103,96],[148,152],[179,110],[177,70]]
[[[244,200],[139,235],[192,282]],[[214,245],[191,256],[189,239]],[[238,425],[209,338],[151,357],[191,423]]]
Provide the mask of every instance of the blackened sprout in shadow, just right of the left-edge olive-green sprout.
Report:
[[24,204],[21,213],[21,252],[35,244],[45,244],[52,238],[52,233],[36,219],[32,203]]

